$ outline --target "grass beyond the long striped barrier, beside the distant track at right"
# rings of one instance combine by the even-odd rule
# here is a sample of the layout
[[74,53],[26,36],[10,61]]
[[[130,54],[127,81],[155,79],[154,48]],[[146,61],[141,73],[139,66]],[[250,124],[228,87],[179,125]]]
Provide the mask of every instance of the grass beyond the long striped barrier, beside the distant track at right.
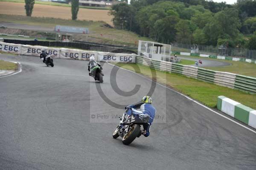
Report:
[[227,62],[227,63],[230,63],[230,65],[228,65],[228,66],[218,66],[218,67],[204,67],[204,68],[215,70],[215,71],[232,72],[232,73],[239,74],[239,75],[247,75],[247,76],[251,76],[251,77],[256,77],[256,64],[255,63],[220,60],[220,59],[194,57],[194,56],[182,56],[182,57],[202,58],[202,59],[205,59],[205,60]]

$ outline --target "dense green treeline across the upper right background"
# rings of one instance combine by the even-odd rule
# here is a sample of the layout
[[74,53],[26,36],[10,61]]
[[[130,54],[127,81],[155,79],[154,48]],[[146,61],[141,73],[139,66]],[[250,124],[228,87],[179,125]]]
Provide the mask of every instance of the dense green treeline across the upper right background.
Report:
[[[256,49],[256,0],[131,0],[112,6],[113,24],[162,43]],[[250,35],[249,38],[244,34]]]

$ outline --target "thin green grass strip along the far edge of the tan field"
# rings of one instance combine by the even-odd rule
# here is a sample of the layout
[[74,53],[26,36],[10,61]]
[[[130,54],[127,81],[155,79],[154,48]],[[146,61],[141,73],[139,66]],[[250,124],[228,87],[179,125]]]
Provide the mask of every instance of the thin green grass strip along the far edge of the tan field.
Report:
[[[25,0],[0,0],[0,1],[2,1],[2,2],[13,2],[13,3],[25,3]],[[36,0],[35,4],[71,7],[71,5],[69,5],[67,3],[56,3],[56,2],[51,2],[51,1],[40,1],[40,0]],[[110,7],[95,7],[95,6],[79,6],[79,8],[102,9],[102,10],[109,10],[110,9]]]

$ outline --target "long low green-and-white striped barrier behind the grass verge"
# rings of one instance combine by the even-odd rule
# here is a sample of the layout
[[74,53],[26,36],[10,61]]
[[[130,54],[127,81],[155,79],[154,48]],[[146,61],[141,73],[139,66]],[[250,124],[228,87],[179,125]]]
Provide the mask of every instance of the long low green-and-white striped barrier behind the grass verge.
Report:
[[231,89],[239,89],[251,94],[256,93],[256,78],[244,75],[237,75],[229,72],[218,72],[209,69],[198,68],[195,66],[185,66],[166,61],[156,61],[142,56],[136,57],[136,63],[154,67],[162,71],[178,73],[188,77],[197,78],[201,81],[214,83]]

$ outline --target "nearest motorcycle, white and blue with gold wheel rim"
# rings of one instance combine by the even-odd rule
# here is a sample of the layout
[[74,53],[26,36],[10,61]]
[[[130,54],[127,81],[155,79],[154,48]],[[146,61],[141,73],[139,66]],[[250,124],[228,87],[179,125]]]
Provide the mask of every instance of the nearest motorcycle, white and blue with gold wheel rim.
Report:
[[127,120],[127,114],[124,112],[123,116],[120,117],[119,125],[116,127],[116,130],[113,133],[113,138],[122,137],[122,143],[125,145],[131,144],[135,138],[140,137],[141,130],[140,126],[143,124],[148,124],[150,119],[149,115],[140,113],[140,115],[134,115],[133,112],[140,112],[138,110],[132,109],[132,114],[130,120]]

